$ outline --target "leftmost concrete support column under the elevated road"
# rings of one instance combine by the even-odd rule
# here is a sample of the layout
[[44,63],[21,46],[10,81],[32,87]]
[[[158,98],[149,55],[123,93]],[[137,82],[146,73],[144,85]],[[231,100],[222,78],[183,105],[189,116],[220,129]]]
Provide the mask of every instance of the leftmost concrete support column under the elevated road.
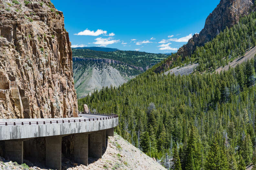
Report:
[[5,141],[5,158],[23,164],[23,141]]

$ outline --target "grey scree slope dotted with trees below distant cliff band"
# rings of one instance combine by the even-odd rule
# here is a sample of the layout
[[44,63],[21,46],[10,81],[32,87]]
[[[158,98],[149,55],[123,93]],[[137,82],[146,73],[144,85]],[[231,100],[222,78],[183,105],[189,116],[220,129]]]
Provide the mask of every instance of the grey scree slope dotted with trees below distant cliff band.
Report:
[[77,97],[85,97],[102,87],[118,87],[142,73],[121,64],[107,64],[94,60],[73,58],[74,86]]

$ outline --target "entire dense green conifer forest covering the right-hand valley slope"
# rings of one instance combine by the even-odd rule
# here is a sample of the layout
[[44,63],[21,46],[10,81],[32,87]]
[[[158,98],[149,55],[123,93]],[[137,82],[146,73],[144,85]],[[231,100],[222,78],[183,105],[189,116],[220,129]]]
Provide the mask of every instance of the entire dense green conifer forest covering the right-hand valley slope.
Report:
[[[173,67],[199,62],[187,76],[152,69],[118,88],[103,88],[79,100],[91,111],[119,115],[115,131],[167,169],[244,170],[256,163],[256,57],[219,74],[255,46],[256,13],[243,17],[191,57],[173,54]],[[164,61],[163,61],[164,62]],[[162,63],[163,63],[162,62]]]

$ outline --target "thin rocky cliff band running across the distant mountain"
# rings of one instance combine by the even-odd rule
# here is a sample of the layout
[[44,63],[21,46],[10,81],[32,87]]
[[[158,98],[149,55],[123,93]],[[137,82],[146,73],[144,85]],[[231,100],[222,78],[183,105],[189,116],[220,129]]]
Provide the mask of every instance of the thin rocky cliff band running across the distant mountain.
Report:
[[[114,60],[114,59],[109,59],[109,58],[80,58],[80,57],[73,57],[74,60],[90,60],[90,61],[94,61],[94,62],[97,62],[97,63],[107,63],[107,64],[121,64],[121,65],[125,65],[125,66],[128,66],[128,67],[131,67],[131,68],[135,68],[137,70],[140,70],[140,71],[144,71],[142,67],[137,67],[137,66],[133,66],[131,64],[126,64],[122,61],[118,61],[118,60]],[[153,63],[152,65],[154,65],[155,63]]]

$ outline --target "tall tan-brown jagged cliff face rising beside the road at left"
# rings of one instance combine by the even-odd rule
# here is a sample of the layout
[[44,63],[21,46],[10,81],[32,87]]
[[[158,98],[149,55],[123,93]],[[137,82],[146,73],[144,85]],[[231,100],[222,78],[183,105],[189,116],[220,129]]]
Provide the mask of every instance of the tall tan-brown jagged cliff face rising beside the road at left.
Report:
[[0,0],[0,118],[77,117],[69,34],[49,0]]

